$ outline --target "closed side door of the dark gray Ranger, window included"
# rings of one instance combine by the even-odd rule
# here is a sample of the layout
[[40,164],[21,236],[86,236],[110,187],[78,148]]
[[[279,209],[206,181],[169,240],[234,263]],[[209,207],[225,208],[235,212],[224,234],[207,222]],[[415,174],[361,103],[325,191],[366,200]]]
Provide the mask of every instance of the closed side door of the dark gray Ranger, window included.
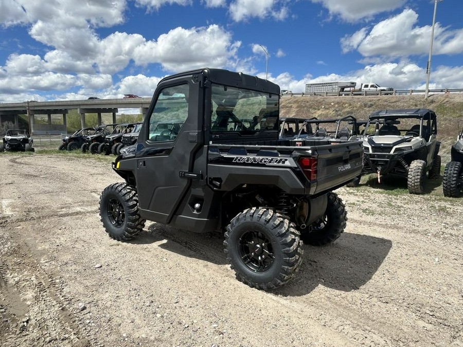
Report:
[[190,76],[158,87],[153,96],[136,151],[139,207],[151,220],[169,223],[192,179],[205,173],[205,163],[195,166],[204,142],[203,90]]

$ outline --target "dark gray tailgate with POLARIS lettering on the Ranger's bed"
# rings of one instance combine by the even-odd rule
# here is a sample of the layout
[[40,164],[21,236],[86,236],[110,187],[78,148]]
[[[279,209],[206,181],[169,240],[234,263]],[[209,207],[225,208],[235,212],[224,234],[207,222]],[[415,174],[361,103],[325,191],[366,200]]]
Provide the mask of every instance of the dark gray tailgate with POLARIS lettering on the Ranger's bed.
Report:
[[311,194],[340,187],[359,176],[363,167],[363,144],[361,141],[336,145],[317,146],[317,179],[312,184]]

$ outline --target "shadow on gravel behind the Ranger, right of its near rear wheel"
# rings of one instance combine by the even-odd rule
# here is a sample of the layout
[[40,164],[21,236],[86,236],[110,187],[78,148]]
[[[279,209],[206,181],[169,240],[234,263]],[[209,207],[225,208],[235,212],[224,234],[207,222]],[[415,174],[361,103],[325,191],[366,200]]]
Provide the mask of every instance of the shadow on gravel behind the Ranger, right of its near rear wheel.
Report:
[[318,285],[342,291],[359,289],[378,271],[391,246],[390,240],[354,233],[343,233],[326,247],[304,246],[299,272],[274,293],[302,296]]

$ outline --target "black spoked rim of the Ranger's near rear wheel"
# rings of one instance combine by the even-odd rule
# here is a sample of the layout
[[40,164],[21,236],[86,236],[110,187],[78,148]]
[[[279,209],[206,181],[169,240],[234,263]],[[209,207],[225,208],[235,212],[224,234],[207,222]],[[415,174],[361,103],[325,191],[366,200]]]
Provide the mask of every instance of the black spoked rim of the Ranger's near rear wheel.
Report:
[[259,231],[243,233],[238,241],[238,252],[243,264],[254,272],[268,270],[274,261],[272,244]]

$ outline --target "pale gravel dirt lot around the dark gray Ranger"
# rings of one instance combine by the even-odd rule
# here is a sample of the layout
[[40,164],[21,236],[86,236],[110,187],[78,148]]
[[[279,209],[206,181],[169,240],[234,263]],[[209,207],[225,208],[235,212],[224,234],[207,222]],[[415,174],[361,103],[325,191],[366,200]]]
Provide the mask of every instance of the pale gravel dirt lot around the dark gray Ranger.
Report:
[[266,293],[234,278],[222,234],[110,239],[109,162],[0,156],[3,346],[463,346],[463,206],[440,186],[338,190],[345,233]]

